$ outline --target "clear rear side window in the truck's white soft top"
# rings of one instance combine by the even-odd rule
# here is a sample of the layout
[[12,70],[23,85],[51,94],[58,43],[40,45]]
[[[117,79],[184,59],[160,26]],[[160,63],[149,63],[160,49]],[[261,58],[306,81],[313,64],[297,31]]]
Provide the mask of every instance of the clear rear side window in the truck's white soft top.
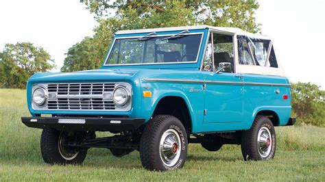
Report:
[[272,41],[237,36],[239,64],[278,68]]

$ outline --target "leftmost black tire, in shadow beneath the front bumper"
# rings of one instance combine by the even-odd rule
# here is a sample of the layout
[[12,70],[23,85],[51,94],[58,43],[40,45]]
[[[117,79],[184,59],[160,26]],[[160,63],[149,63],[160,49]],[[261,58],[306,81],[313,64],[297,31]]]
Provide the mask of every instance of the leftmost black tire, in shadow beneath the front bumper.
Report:
[[55,129],[43,129],[40,136],[40,152],[47,164],[82,164],[87,155],[86,149],[69,148],[64,146],[68,140],[80,140],[84,134],[73,133]]

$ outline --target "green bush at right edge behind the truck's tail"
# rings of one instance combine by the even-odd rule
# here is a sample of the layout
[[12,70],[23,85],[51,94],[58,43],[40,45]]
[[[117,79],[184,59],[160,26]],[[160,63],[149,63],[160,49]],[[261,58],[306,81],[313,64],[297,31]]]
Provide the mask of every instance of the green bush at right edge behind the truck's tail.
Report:
[[312,83],[291,84],[291,106],[300,123],[325,126],[325,91]]

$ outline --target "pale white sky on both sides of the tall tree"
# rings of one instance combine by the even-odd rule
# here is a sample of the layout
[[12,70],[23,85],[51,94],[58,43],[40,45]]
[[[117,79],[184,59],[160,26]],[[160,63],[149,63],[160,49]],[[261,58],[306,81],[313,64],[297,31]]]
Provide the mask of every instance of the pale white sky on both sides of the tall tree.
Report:
[[[256,23],[274,41],[291,82],[325,89],[325,1],[261,0]],[[56,61],[58,70],[73,44],[93,35],[97,22],[79,0],[0,2],[0,51],[6,43],[32,42]]]

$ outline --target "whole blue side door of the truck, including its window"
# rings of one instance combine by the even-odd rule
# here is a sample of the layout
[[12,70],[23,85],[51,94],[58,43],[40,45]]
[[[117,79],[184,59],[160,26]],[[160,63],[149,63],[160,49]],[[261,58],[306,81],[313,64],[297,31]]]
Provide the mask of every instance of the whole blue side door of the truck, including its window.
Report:
[[[233,46],[232,36],[210,34],[203,71],[204,123],[243,121],[243,77],[234,73]],[[209,60],[212,60],[210,64]],[[220,62],[230,62],[231,66],[215,73]]]

